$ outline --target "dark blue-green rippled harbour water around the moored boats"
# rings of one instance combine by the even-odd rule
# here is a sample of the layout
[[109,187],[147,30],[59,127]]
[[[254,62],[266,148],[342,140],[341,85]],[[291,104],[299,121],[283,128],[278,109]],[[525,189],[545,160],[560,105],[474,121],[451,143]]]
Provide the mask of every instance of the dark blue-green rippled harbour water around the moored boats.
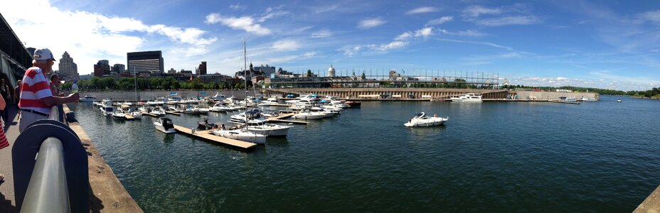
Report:
[[[75,110],[146,212],[631,212],[660,184],[659,107],[363,102],[251,153]],[[419,111],[449,121],[405,128]]]

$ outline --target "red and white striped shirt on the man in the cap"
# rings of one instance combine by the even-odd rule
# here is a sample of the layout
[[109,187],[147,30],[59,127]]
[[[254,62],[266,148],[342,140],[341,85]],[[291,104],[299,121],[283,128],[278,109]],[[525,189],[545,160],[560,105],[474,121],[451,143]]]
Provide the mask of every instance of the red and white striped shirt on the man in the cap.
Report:
[[44,104],[41,99],[52,96],[50,82],[46,74],[39,67],[30,67],[23,76],[21,100],[18,102],[18,107],[50,114],[50,107],[52,106]]

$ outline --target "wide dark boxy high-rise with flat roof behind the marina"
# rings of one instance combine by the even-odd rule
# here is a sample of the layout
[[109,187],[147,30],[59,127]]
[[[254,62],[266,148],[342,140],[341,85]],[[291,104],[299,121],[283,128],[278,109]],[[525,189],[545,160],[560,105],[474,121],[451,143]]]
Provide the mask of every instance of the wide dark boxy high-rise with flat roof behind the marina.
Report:
[[158,51],[135,52],[126,54],[128,70],[137,72],[164,72],[163,53]]

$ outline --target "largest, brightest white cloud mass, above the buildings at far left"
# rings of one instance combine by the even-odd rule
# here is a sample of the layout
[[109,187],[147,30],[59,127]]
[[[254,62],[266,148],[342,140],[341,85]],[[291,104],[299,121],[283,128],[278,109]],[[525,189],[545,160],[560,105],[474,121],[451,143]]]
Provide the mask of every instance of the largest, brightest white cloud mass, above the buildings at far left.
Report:
[[[30,9],[30,13],[25,13],[26,8]],[[217,40],[215,37],[206,37],[207,32],[199,28],[149,25],[134,18],[87,11],[63,11],[45,0],[11,1],[0,7],[0,13],[18,38],[27,43],[27,47],[50,48],[57,59],[67,51],[78,64],[81,75],[92,72],[92,65],[98,60],[125,64],[126,53],[154,50],[150,45],[154,42],[165,41],[162,45],[194,50],[182,52],[185,55],[198,55],[206,53],[207,46]],[[43,36],[43,33],[34,32],[51,33]],[[169,43],[169,40],[173,43]],[[156,50],[163,50],[166,58],[170,49]]]

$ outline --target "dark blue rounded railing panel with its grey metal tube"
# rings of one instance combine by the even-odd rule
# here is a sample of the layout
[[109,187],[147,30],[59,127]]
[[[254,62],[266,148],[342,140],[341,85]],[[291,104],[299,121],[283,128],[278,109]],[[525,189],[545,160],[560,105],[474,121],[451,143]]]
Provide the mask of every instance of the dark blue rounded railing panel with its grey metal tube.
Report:
[[30,124],[11,150],[16,207],[21,212],[89,212],[87,151],[53,107]]

